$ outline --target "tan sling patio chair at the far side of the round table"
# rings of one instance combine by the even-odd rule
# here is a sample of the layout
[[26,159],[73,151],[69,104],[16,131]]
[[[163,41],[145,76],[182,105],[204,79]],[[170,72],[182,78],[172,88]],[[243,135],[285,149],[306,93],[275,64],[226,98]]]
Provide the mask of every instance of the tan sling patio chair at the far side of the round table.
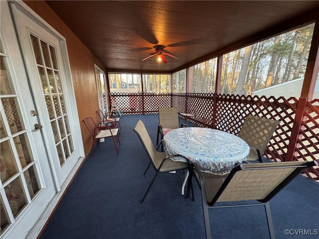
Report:
[[[156,144],[159,144],[163,140],[163,136],[172,129],[178,128],[178,112],[176,107],[159,107],[159,126],[158,136]],[[185,123],[182,123],[180,127],[187,127]],[[163,147],[162,147],[163,151]]]

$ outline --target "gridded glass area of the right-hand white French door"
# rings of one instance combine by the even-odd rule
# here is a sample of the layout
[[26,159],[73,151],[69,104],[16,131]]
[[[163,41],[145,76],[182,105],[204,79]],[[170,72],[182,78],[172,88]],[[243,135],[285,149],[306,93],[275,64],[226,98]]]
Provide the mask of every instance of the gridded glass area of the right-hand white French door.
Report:
[[[62,165],[74,151],[74,145],[73,140],[71,140],[72,132],[67,122],[68,111],[59,72],[58,57],[54,46],[49,45],[43,39],[39,40],[38,37],[32,34],[31,39],[33,39],[33,50],[36,51],[39,48],[42,51],[42,62],[45,62],[45,70],[42,70],[40,67],[38,67],[38,70],[41,77],[44,100],[51,120],[52,133],[55,143],[57,144],[57,154],[59,156],[60,165]],[[44,77],[47,77],[47,79],[45,78],[44,80]],[[47,84],[49,85],[49,91],[46,90]],[[58,132],[60,132],[61,138]],[[68,139],[66,139],[66,137]]]

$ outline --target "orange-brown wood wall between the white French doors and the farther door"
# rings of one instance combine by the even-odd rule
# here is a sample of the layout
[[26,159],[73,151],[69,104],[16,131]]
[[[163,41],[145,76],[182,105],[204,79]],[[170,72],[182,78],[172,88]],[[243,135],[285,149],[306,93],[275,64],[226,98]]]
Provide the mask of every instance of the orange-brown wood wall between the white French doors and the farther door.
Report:
[[95,113],[95,111],[99,109],[99,102],[94,64],[104,70],[104,72],[106,72],[105,67],[94,57],[89,49],[55,14],[45,1],[36,0],[24,2],[66,39],[83,145],[85,155],[87,155],[91,150],[92,136],[82,120],[90,116],[95,121],[98,121],[98,117]]

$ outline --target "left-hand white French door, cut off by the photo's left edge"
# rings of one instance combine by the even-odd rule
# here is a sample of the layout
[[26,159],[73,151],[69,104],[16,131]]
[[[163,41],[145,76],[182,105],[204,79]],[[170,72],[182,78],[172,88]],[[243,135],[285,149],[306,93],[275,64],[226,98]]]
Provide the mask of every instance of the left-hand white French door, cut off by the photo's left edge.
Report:
[[8,5],[0,4],[1,237],[24,238],[56,191]]

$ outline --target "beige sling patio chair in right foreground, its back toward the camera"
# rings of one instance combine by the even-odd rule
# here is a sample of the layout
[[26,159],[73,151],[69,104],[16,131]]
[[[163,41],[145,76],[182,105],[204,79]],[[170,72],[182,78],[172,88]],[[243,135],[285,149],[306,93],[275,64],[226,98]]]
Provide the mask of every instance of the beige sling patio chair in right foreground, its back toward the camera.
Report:
[[[208,208],[258,205],[265,207],[269,235],[271,239],[274,239],[275,232],[269,200],[304,169],[316,164],[318,165],[316,161],[240,164],[224,176],[201,172],[198,165],[195,164],[195,175],[201,189],[206,239],[211,239]],[[190,165],[190,168],[193,168],[192,166]],[[216,205],[220,202],[228,203],[227,205]],[[245,228],[244,224],[243,228]]]

